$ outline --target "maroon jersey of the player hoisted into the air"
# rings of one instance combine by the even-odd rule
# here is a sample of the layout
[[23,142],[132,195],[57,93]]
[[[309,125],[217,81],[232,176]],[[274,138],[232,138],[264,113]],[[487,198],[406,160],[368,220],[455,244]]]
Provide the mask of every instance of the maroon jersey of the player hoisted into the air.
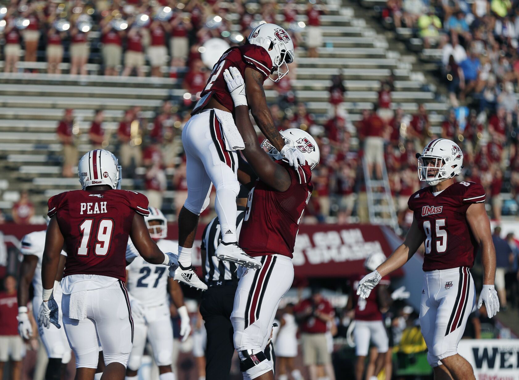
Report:
[[191,115],[197,114],[214,97],[218,103],[234,112],[233,98],[227,89],[223,72],[229,67],[236,67],[240,74],[245,77],[245,68],[251,67],[263,75],[263,80],[267,79],[272,68],[272,60],[268,52],[261,46],[247,44],[235,46],[222,54],[220,60],[213,67],[206,87],[200,94],[200,100],[196,104]]

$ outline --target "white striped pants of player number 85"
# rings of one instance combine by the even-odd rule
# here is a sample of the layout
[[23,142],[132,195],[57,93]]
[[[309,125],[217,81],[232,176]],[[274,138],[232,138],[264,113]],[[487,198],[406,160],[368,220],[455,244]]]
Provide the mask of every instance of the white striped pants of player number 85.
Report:
[[468,268],[424,272],[420,327],[431,367],[456,355],[467,320],[476,304],[474,280]]

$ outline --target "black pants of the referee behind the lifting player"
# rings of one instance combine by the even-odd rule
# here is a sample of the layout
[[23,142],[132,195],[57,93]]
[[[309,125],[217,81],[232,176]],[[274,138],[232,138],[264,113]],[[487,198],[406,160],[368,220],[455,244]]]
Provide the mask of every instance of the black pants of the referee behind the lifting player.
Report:
[[234,354],[233,312],[238,285],[210,286],[200,303],[206,322],[206,380],[228,380]]

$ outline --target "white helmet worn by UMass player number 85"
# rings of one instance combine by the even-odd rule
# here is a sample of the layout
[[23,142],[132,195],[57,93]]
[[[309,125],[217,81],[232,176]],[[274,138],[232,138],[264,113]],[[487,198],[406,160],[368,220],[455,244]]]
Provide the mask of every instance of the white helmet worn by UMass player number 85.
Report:
[[463,152],[458,144],[448,138],[432,140],[422,154],[416,153],[416,158],[418,177],[429,186],[459,175],[463,167]]

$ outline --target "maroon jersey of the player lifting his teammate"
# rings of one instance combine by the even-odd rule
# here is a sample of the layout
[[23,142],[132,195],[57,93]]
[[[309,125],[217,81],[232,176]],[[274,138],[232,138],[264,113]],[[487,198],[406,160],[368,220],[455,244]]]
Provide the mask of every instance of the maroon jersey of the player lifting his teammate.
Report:
[[288,190],[276,191],[258,179],[247,199],[239,245],[252,257],[292,258],[299,222],[313,190],[310,166],[299,166],[296,172],[284,161],[279,164],[290,174]]

